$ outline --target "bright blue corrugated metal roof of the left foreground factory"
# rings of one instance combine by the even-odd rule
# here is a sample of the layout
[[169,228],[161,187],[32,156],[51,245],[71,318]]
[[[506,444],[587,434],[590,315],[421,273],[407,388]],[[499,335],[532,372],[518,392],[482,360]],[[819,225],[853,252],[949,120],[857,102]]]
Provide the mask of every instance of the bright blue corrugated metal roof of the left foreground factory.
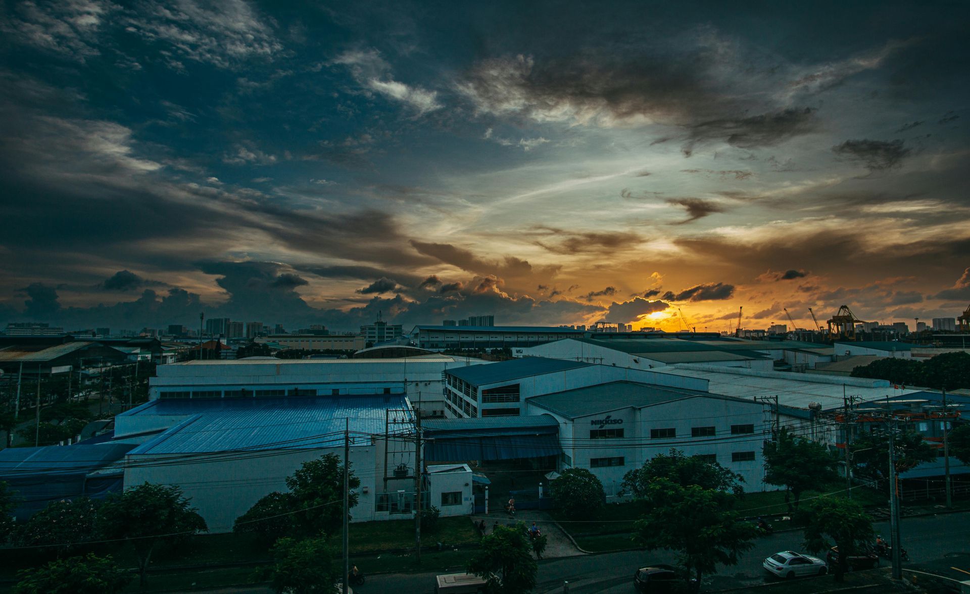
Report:
[[[293,398],[156,400],[129,413],[185,416],[132,454],[330,448],[343,443],[344,419],[354,433],[383,433],[386,411],[404,409],[404,394]],[[366,438],[370,443],[370,437]]]

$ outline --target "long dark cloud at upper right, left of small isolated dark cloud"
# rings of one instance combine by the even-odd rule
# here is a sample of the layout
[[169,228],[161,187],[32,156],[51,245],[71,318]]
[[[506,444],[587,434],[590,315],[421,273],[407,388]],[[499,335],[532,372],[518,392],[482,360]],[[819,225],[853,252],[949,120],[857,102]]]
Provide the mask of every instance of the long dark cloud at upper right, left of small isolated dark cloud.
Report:
[[684,144],[684,154],[690,156],[695,143],[727,141],[738,148],[774,146],[795,136],[808,134],[816,128],[816,109],[782,109],[751,117],[724,118],[701,122],[691,127],[691,137]]

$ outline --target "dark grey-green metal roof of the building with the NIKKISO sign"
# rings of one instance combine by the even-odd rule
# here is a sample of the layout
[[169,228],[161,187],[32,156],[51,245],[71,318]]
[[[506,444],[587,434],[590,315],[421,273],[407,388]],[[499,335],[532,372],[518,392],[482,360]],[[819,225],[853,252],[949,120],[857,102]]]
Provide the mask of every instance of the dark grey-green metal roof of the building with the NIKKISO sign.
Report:
[[703,391],[670,389],[637,382],[610,382],[535,396],[529,399],[529,404],[574,419],[630,406],[643,408],[696,396],[720,397]]

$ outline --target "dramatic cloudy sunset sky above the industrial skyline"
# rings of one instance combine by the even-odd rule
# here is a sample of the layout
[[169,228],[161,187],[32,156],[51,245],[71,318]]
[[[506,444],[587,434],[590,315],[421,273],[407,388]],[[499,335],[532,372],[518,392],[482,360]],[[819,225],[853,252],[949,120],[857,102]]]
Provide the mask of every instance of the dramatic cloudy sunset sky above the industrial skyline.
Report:
[[970,302],[965,2],[0,3],[0,322]]

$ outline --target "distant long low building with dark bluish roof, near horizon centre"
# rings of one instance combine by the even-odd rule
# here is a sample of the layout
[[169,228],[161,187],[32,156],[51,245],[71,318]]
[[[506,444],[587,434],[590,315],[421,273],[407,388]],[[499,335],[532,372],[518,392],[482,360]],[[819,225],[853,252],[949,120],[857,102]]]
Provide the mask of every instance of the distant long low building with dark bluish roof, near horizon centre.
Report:
[[415,326],[410,340],[422,349],[504,349],[533,347],[586,332],[548,326]]

